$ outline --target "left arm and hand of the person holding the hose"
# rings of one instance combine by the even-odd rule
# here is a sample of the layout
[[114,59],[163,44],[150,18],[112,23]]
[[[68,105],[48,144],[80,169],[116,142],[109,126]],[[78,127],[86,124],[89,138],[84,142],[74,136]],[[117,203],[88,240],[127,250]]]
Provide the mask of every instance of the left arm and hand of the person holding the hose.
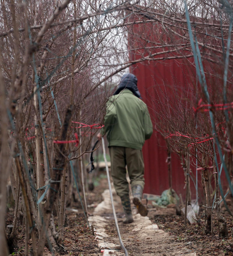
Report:
[[117,113],[114,106],[114,101],[108,101],[106,107],[106,115],[104,118],[104,127],[101,128],[100,133],[98,133],[97,138],[101,140],[101,138],[111,129],[111,127],[115,123]]

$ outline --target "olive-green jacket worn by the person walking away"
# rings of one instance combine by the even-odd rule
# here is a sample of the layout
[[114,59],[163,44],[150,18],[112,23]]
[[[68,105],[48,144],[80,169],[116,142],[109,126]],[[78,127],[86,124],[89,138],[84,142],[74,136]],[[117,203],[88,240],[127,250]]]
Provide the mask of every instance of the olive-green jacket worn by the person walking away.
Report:
[[147,105],[130,90],[124,89],[109,98],[104,127],[101,135],[107,134],[108,147],[120,146],[142,149],[153,132]]

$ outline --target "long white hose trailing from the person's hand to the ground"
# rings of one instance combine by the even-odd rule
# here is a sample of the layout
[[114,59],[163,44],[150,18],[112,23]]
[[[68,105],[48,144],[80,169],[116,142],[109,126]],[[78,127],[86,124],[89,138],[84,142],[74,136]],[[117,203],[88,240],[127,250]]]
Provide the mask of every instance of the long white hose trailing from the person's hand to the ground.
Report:
[[128,256],[128,252],[127,252],[127,250],[126,250],[126,248],[125,248],[125,246],[124,246],[124,244],[122,242],[122,239],[121,239],[120,230],[119,230],[119,226],[118,226],[118,222],[117,222],[117,215],[116,215],[115,207],[114,207],[114,203],[113,203],[113,193],[112,193],[112,187],[111,187],[111,182],[110,182],[108,163],[107,163],[107,159],[106,159],[106,151],[105,151],[105,145],[104,145],[103,137],[102,137],[102,147],[103,147],[103,158],[104,158],[104,162],[105,162],[105,166],[106,166],[106,172],[107,172],[107,177],[108,177],[108,186],[109,186],[110,198],[111,198],[112,208],[113,208],[113,216],[114,216],[115,224],[116,224],[116,227],[117,227],[117,233],[118,233],[118,237],[119,237],[121,248],[125,252],[125,256]]

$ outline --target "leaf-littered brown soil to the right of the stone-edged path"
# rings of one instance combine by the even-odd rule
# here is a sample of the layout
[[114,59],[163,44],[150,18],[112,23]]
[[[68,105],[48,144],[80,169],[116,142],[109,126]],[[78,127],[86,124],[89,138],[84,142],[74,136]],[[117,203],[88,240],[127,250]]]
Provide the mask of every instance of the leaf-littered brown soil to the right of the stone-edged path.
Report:
[[[233,200],[227,200],[228,208],[233,210]],[[203,208],[199,211],[199,223],[184,226],[184,216],[176,215],[175,209],[157,209],[151,221],[155,222],[158,227],[167,232],[175,241],[179,241],[181,246],[186,246],[191,250],[195,250],[197,255],[233,255],[233,218],[222,206],[222,216],[227,221],[228,238],[219,238],[217,228],[217,216],[215,210],[213,212],[214,234],[205,235],[204,233],[204,217],[201,218]]]

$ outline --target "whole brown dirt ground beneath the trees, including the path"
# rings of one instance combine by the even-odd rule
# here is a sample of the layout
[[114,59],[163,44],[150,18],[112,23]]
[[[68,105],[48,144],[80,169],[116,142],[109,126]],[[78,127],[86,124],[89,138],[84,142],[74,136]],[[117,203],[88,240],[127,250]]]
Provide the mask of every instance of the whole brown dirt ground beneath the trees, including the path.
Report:
[[[98,216],[96,208],[104,208],[98,206],[103,200],[103,195],[107,193],[107,179],[102,174],[101,179],[94,190],[88,193],[88,209],[89,221],[93,222],[96,232],[104,232],[104,240],[110,246],[116,245],[114,251],[104,252],[104,255],[124,255],[123,250],[119,246],[119,238],[113,219],[112,210],[107,207],[108,203],[103,203],[106,209],[103,209],[101,216]],[[168,255],[233,255],[232,227],[233,218],[227,213],[223,207],[223,216],[227,220],[229,236],[225,239],[220,239],[217,233],[216,216],[214,214],[214,234],[204,235],[204,218],[201,218],[199,225],[187,224],[184,226],[184,216],[176,215],[174,208],[151,208],[149,209],[148,217],[133,215],[135,222],[128,225],[123,225],[123,209],[120,205],[119,198],[114,196],[114,204],[118,216],[123,243],[129,253],[129,256],[168,256]],[[233,209],[233,202],[229,198],[229,207]],[[97,207],[98,206],[98,207]],[[80,203],[73,204],[71,207],[75,210],[67,210],[67,227],[65,227],[64,247],[66,256],[102,256],[98,234],[92,235],[83,214]],[[201,217],[203,209],[200,210]],[[12,223],[12,211],[7,213],[7,224]],[[96,225],[95,219],[99,224]],[[102,218],[102,224],[98,218]],[[104,218],[104,219],[103,219]],[[142,219],[145,218],[145,219]],[[102,228],[102,230],[101,230]],[[103,231],[104,230],[104,231]],[[102,239],[100,237],[100,239]],[[24,236],[20,235],[18,248],[12,255],[24,255]],[[108,247],[108,246],[107,246]],[[106,251],[106,250],[105,250]],[[51,255],[49,250],[45,248],[44,255]],[[55,254],[60,255],[60,254]]]

